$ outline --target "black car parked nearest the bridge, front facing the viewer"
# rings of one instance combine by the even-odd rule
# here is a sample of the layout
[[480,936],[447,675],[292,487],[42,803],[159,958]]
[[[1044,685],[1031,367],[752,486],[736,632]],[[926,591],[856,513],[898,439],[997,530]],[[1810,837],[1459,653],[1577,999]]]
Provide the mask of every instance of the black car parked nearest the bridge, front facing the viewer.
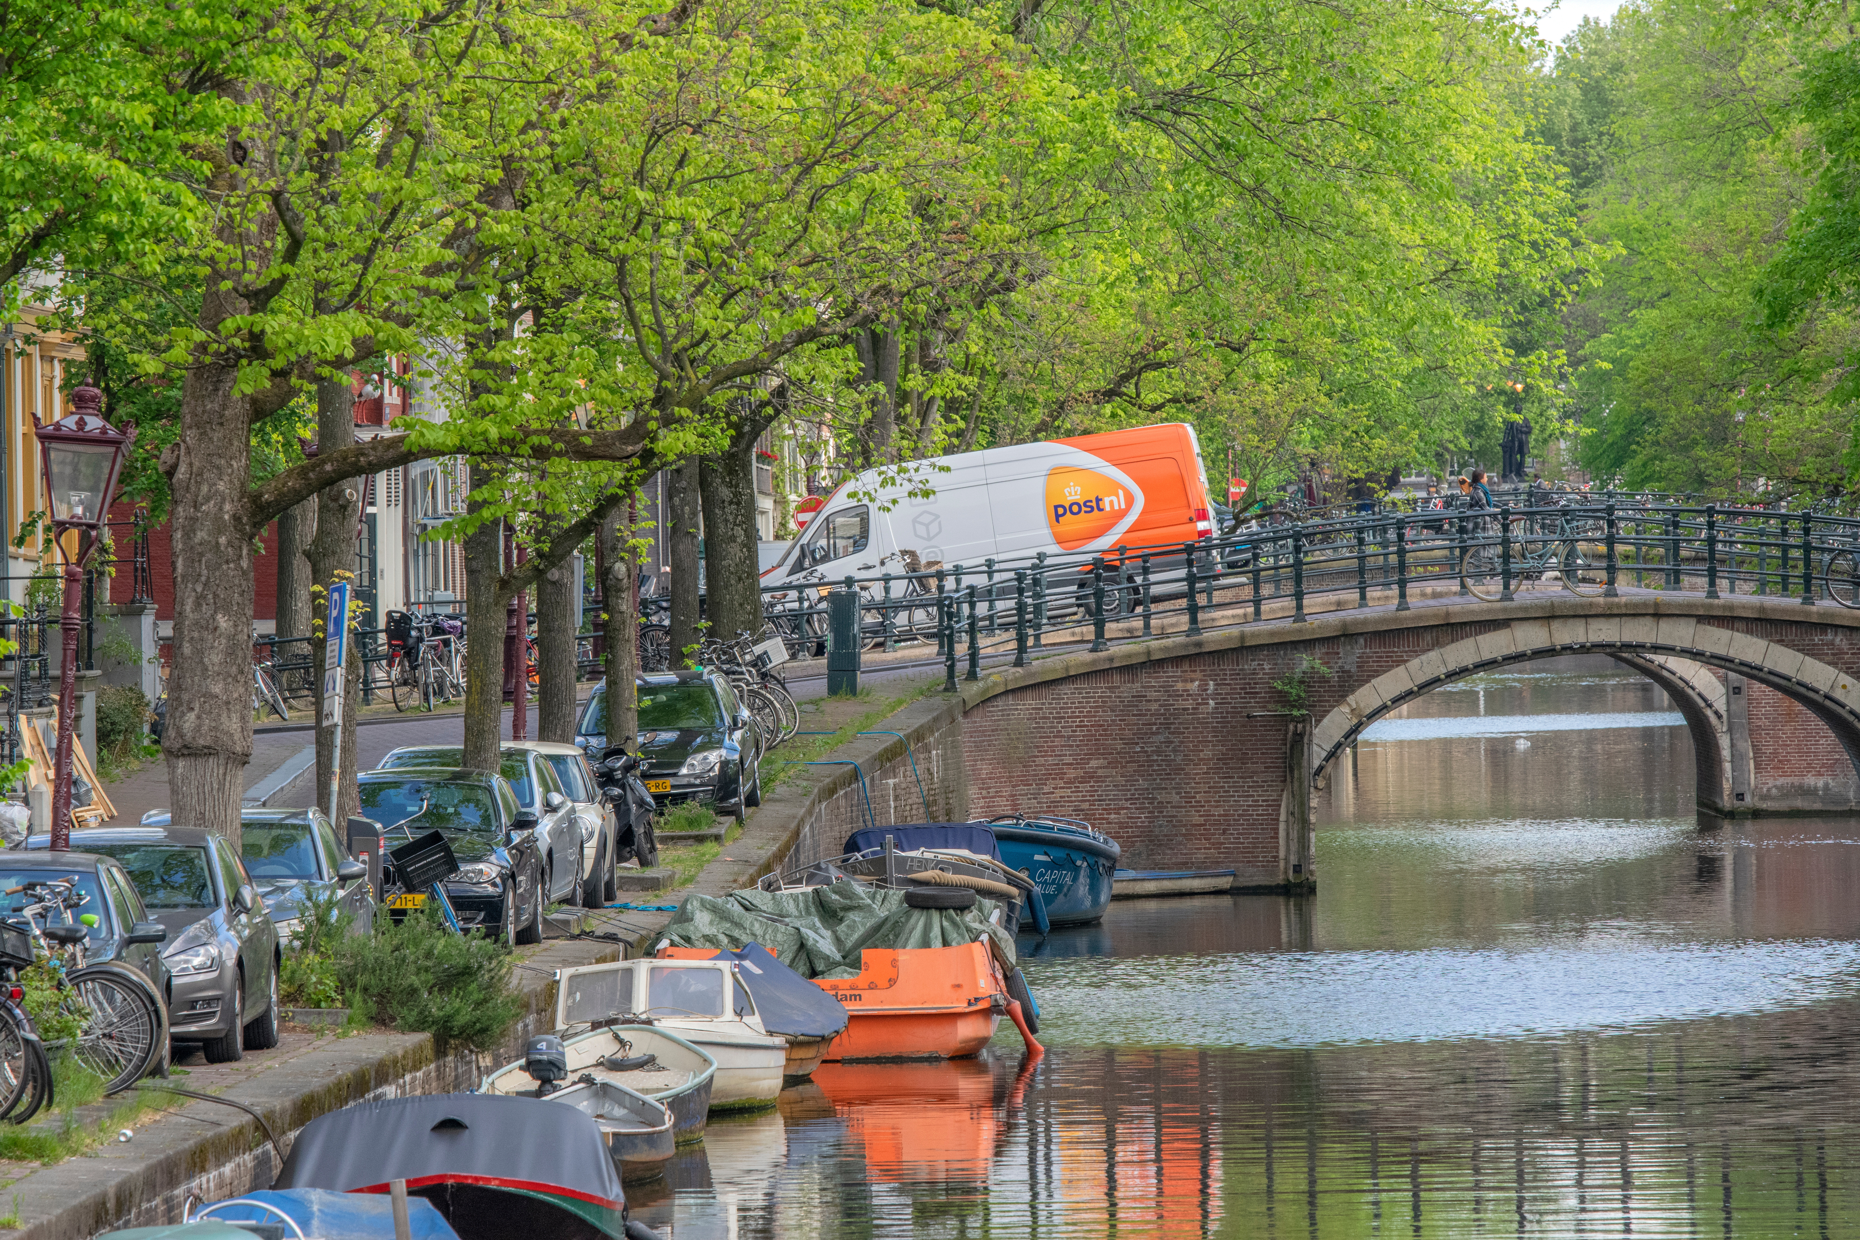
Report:
[[[714,671],[668,671],[638,679],[640,779],[664,805],[703,801],[742,822],[763,803],[755,760],[761,734],[729,680]],[[575,729],[590,753],[606,747],[606,693],[595,686]]]

